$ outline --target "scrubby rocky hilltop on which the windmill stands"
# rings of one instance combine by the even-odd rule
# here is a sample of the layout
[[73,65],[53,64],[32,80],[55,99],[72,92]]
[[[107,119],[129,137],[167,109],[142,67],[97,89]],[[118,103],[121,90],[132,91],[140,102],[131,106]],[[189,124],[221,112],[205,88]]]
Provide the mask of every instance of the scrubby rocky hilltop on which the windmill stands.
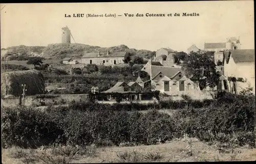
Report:
[[[150,50],[137,50],[134,48],[129,48],[126,45],[119,45],[113,47],[99,47],[91,46],[80,43],[56,43],[49,44],[48,46],[12,46],[6,49],[1,49],[5,52],[5,56],[25,56],[25,57],[42,57],[45,59],[63,59],[66,57],[80,58],[83,56],[84,52],[101,52],[106,53],[126,51],[132,53],[134,56],[139,56],[142,58],[149,58],[154,54],[154,51]],[[1,55],[2,56],[2,55]]]

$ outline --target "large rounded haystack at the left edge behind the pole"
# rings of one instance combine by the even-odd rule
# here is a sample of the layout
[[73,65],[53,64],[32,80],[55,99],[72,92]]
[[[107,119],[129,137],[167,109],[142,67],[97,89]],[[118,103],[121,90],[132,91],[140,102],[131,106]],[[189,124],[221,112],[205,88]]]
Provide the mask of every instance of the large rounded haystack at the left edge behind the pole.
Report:
[[39,71],[11,71],[2,74],[2,97],[20,96],[23,93],[23,84],[26,84],[26,95],[44,94],[46,91],[44,76]]

